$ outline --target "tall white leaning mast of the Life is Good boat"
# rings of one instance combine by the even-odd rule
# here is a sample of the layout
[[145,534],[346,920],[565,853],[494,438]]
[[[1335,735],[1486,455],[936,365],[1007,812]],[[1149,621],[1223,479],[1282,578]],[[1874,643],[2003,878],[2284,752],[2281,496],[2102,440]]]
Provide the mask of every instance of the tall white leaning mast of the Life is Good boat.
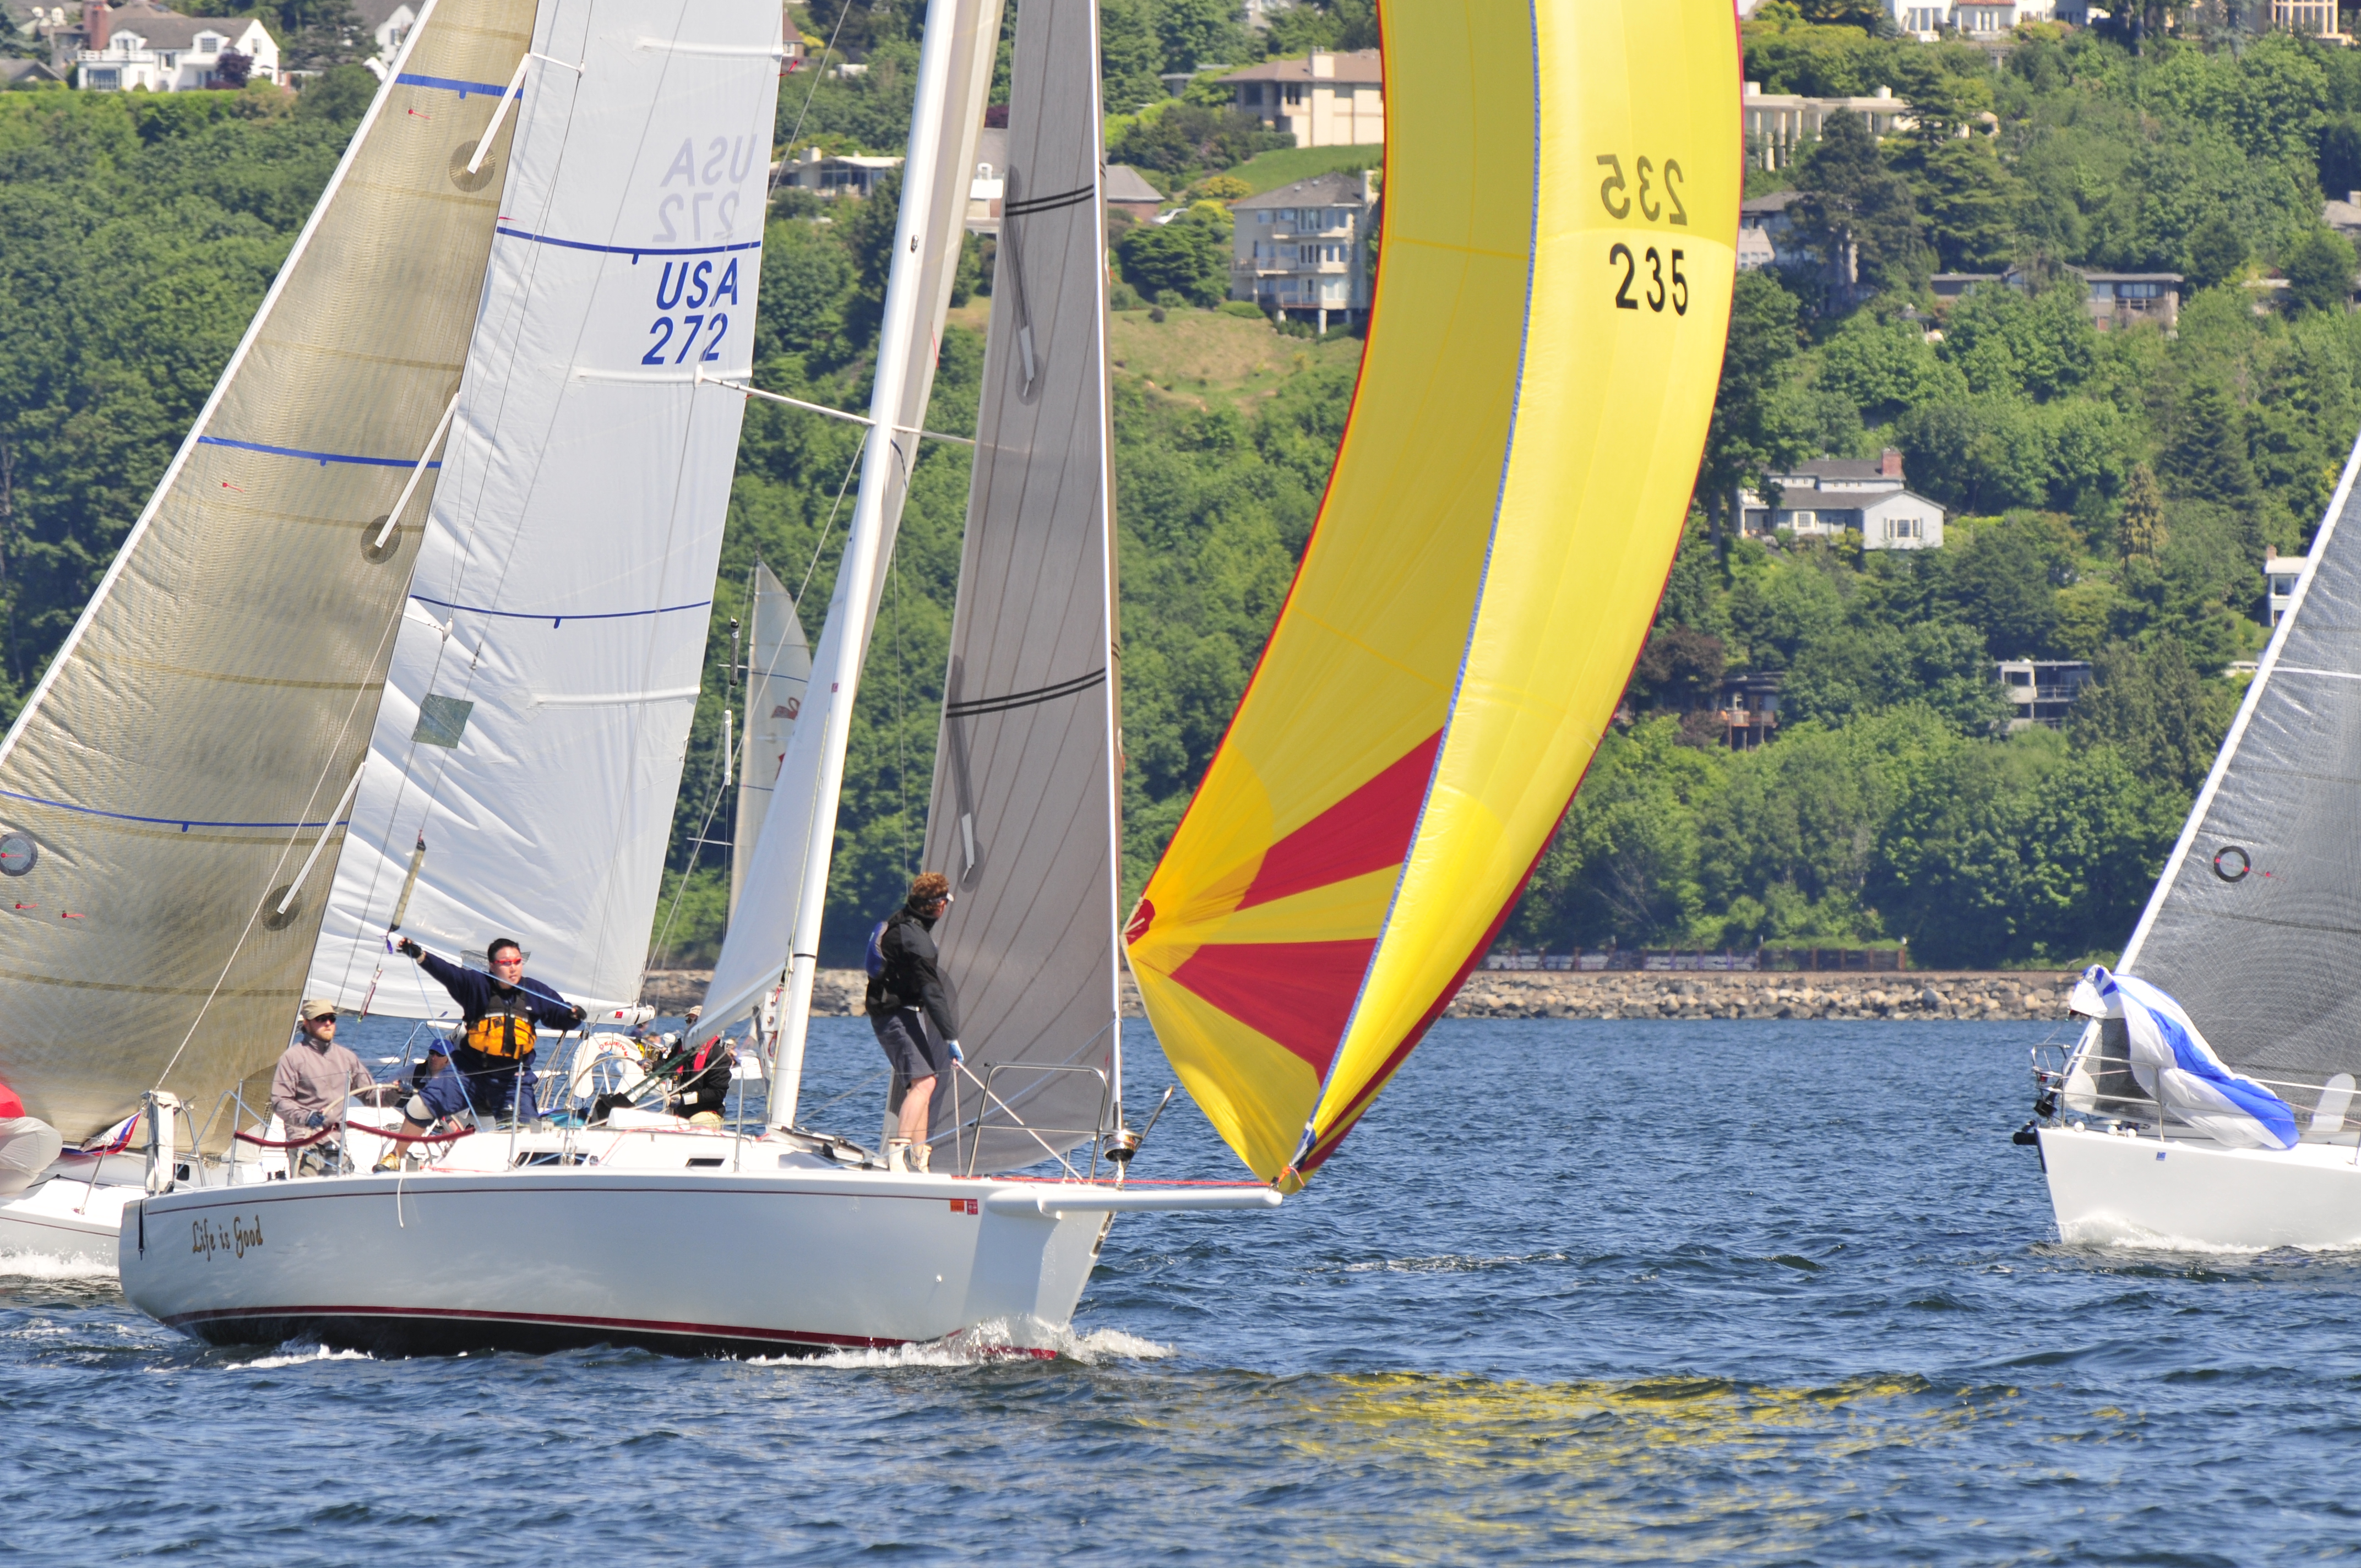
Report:
[[[949,274],[966,236],[973,146],[989,87],[999,12],[996,0],[935,0],[928,7],[926,38],[918,45],[918,97],[909,123],[909,156],[902,163],[902,213],[895,220],[892,264],[885,272],[885,319],[878,326],[876,383],[869,392],[862,489],[852,505],[852,531],[836,574],[829,628],[822,633],[819,656],[812,661],[810,690],[815,699],[824,697],[824,704],[817,727],[812,810],[800,824],[803,867],[789,940],[786,994],[779,1004],[779,1056],[770,1089],[770,1122],[774,1126],[796,1124],[803,1046],[812,1015],[812,975],[819,968],[819,921],[829,897],[829,857],[836,848],[836,803],[845,782],[845,746],[852,737],[852,699],[859,690],[862,659],[869,652],[869,626],[876,621],[878,569],[890,545],[888,536],[900,522],[926,399],[933,392],[935,347],[951,288]],[[933,326],[926,338],[921,338],[923,319]],[[711,1018],[706,1023],[718,1027]]]

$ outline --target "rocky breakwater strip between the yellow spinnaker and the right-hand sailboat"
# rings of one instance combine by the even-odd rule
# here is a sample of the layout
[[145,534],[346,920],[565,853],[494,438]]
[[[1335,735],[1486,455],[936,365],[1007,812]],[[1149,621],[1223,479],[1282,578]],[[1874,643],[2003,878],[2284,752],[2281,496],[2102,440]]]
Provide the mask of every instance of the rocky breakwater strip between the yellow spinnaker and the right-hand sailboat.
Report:
[[1476,971],[1445,1018],[2066,1018],[2073,973]]

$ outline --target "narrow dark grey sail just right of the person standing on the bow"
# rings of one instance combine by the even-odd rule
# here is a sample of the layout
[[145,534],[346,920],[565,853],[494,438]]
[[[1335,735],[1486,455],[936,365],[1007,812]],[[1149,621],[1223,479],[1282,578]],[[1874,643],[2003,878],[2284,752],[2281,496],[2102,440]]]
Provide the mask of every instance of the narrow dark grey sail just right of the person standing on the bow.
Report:
[[[968,1072],[959,1169],[1034,1164],[1112,1117],[1114,553],[1098,7],[1018,12],[1008,170],[926,867]],[[985,1093],[989,1089],[989,1096]],[[956,1124],[956,1126],[954,1126]]]

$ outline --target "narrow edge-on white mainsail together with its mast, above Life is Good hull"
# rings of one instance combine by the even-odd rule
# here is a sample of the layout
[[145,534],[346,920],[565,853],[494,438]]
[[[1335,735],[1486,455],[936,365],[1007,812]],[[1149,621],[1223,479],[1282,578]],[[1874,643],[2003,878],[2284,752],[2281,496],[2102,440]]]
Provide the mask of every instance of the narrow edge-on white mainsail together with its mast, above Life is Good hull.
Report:
[[935,390],[935,354],[966,241],[975,142],[992,90],[999,28],[999,0],[935,0],[928,9],[859,501],[829,597],[829,619],[812,652],[810,697],[789,737],[696,1025],[699,1037],[718,1034],[786,985],[779,1072],[770,1093],[770,1117],[779,1124],[791,1124],[796,1115],[852,699],[885,590],[881,564],[892,553],[926,404]]

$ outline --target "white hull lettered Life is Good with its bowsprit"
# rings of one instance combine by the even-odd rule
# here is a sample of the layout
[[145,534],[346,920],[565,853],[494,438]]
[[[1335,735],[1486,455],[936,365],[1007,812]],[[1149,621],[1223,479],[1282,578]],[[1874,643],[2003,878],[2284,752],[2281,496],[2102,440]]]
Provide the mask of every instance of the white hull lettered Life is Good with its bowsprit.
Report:
[[779,1355],[996,1325],[1011,1344],[1046,1346],[1081,1299],[1114,1207],[1268,1202],[1263,1188],[1162,1200],[843,1169],[777,1141],[630,1133],[583,1167],[146,1197],[123,1216],[120,1266],[132,1306],[210,1344]]

